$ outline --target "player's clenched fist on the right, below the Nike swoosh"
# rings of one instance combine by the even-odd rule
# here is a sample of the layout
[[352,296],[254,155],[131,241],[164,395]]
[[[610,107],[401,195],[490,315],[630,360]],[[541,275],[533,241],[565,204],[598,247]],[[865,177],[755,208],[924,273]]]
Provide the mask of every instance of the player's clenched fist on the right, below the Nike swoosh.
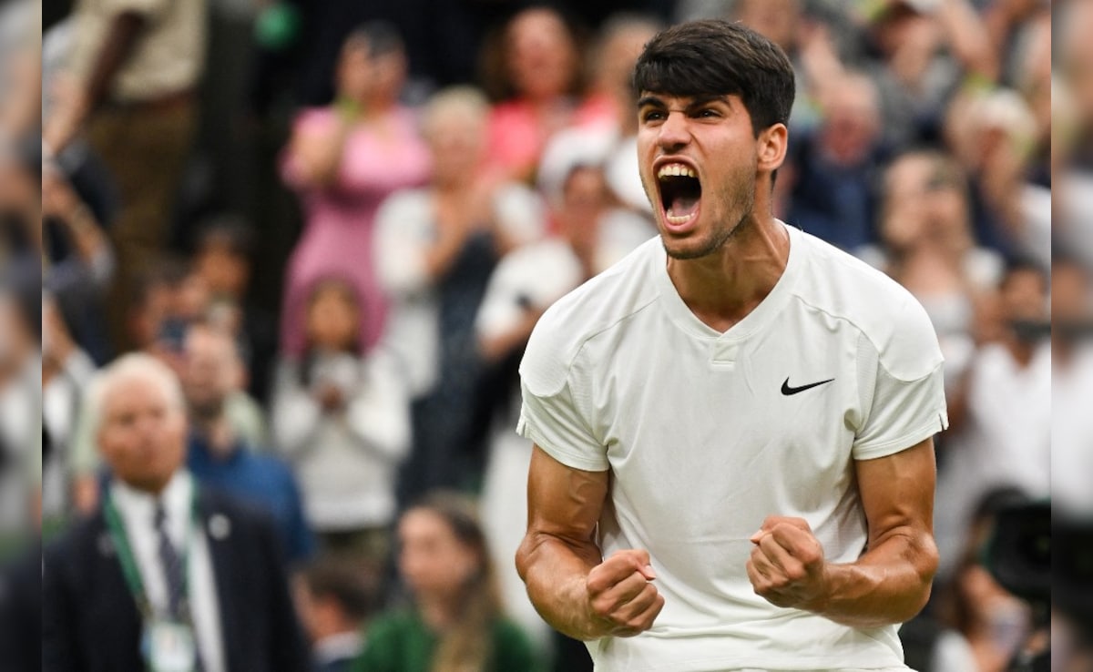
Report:
[[826,590],[823,546],[803,518],[768,516],[751,537],[748,578],[776,606],[811,609]]

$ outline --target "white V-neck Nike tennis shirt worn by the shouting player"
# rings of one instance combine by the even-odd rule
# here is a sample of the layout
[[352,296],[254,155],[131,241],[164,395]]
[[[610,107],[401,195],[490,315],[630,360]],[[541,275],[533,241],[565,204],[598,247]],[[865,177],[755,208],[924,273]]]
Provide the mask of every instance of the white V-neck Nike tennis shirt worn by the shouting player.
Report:
[[719,333],[680,298],[659,238],[554,304],[520,366],[517,431],[611,470],[604,556],[646,549],[665,608],[589,642],[600,672],[903,669],[896,628],[856,629],[756,596],[766,516],[808,520],[825,556],[867,542],[854,460],[948,425],[926,313],[881,272],[799,229],[771,294]]

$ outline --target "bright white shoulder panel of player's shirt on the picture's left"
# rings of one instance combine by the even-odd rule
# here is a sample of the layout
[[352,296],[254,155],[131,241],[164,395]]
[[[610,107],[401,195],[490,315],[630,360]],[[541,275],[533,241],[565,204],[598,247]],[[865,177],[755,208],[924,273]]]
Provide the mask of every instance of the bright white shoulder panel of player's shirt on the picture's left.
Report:
[[584,344],[623,326],[658,296],[653,272],[660,239],[653,238],[610,269],[555,302],[539,319],[520,373],[543,391],[561,388]]

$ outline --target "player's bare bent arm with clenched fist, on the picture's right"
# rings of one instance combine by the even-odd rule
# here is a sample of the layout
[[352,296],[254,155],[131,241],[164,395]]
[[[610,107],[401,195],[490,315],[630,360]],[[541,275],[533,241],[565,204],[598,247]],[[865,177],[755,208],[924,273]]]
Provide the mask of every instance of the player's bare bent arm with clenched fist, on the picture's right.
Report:
[[926,605],[938,567],[933,544],[933,439],[856,462],[869,524],[866,552],[826,563],[808,523],[767,518],[752,541],[748,573],[755,592],[851,627],[904,623]]

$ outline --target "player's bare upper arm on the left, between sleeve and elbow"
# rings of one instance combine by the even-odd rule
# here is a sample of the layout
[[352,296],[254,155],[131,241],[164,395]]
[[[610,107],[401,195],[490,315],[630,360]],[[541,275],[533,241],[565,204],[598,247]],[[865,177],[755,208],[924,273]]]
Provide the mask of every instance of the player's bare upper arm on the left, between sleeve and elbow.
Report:
[[528,532],[576,543],[592,541],[609,473],[566,467],[534,446],[528,472]]

